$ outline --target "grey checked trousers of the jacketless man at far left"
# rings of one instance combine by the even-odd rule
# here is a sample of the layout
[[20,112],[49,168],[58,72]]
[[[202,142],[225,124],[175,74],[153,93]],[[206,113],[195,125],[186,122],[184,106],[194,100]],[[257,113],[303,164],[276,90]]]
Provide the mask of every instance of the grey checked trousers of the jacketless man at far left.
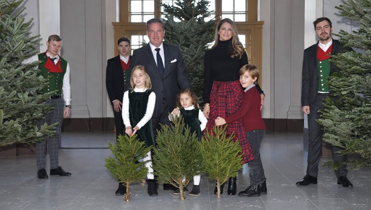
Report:
[[39,121],[38,127],[45,123],[47,125],[58,123],[58,125],[55,126],[55,131],[57,132],[55,136],[46,138],[44,141],[36,143],[36,161],[39,170],[46,168],[46,143],[49,151],[50,168],[58,168],[59,166],[59,135],[63,121],[64,100],[62,97],[60,97],[57,99],[48,99],[45,103],[48,105],[55,105],[56,107],[48,115],[46,115],[45,119]]

